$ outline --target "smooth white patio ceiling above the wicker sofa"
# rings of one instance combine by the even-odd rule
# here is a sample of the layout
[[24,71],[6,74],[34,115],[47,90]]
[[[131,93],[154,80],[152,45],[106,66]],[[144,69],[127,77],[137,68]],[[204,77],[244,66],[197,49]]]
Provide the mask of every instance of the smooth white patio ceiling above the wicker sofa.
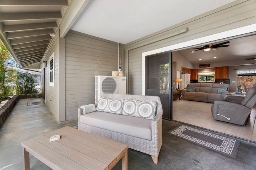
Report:
[[126,44],[233,1],[91,0],[71,29]]

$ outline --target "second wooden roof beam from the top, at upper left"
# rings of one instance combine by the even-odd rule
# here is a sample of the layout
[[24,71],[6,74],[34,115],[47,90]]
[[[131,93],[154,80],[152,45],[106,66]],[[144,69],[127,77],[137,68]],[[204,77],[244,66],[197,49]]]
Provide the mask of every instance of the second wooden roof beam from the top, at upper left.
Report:
[[60,12],[0,13],[0,21],[43,20],[62,18]]

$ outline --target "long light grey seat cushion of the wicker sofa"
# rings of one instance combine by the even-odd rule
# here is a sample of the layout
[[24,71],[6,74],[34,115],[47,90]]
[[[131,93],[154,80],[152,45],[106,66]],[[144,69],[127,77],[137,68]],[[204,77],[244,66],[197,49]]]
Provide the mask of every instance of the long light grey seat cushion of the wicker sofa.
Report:
[[94,111],[81,115],[80,122],[109,131],[151,140],[150,119]]

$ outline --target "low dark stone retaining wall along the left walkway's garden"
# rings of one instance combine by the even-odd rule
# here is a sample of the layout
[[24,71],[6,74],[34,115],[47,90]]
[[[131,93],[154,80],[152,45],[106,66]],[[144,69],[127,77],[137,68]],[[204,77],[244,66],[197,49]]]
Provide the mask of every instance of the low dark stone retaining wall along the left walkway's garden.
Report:
[[4,121],[8,118],[8,116],[12,112],[13,107],[16,105],[19,99],[26,99],[26,98],[42,98],[42,94],[41,93],[20,94],[20,95],[14,95],[12,97],[9,97],[7,99],[7,102],[0,108],[0,127],[2,127]]

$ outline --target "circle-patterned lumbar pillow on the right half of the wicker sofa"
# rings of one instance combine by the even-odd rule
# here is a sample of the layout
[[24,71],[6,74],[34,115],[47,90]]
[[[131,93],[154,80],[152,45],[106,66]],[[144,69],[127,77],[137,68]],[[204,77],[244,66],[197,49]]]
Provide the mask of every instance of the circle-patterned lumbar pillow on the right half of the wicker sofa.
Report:
[[124,100],[124,107],[122,114],[142,117],[146,119],[154,119],[156,114],[156,105],[154,101],[136,101],[136,100]]

